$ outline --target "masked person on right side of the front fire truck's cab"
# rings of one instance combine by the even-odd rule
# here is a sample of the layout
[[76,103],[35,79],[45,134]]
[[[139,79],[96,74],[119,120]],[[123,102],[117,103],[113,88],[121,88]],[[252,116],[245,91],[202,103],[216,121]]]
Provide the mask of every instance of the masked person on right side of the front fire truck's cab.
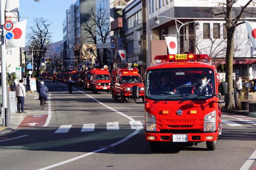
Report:
[[199,78],[199,83],[195,85],[192,89],[192,94],[196,95],[211,95],[213,93],[213,88],[210,83],[207,83],[207,76],[202,74]]

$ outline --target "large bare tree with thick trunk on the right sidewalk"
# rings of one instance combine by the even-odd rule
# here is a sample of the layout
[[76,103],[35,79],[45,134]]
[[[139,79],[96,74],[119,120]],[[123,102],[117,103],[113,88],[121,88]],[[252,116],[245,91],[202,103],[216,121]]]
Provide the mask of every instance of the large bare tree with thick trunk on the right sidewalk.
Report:
[[[227,31],[227,47],[226,47],[226,81],[228,82],[228,95],[226,95],[226,108],[234,108],[235,101],[233,92],[233,56],[234,56],[234,34],[236,31],[236,27],[244,22],[241,21],[241,17],[245,15],[245,13],[250,15],[256,15],[255,9],[253,11],[247,10],[248,6],[254,6],[255,0],[243,0],[245,5],[239,5],[239,11],[233,13],[233,5],[236,4],[237,0],[223,0],[221,2],[217,2],[218,5],[213,8],[208,8],[202,10],[202,12],[206,12],[208,14],[213,15],[213,17],[224,18]],[[239,1],[241,2],[241,1]]]

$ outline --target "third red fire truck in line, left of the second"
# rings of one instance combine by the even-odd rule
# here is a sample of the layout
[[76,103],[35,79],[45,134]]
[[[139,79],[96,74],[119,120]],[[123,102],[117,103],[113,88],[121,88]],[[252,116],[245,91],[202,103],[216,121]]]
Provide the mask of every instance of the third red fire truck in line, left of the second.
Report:
[[97,68],[91,70],[92,73],[92,92],[98,93],[98,91],[107,91],[110,90],[110,74],[108,69]]

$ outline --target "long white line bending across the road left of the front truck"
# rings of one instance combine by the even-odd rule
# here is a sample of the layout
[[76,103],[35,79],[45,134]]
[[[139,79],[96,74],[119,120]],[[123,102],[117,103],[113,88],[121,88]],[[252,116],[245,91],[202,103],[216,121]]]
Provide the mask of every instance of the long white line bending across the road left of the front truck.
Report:
[[[67,85],[65,85],[65,84],[62,84],[62,85],[67,86]],[[74,88],[74,89],[75,89],[75,88]],[[77,90],[77,89],[75,89],[75,90]],[[80,90],[77,90],[77,91],[80,91]],[[114,111],[114,112],[116,112],[116,113],[118,113],[118,114],[120,114],[120,115],[126,117],[126,118],[129,119],[130,121],[135,121],[132,117],[130,117],[130,116],[128,116],[128,115],[126,115],[126,114],[124,114],[124,113],[122,113],[122,112],[119,112],[119,111],[117,111],[117,110],[115,110],[115,109],[113,109],[113,108],[107,106],[106,104],[104,104],[104,103],[98,101],[97,99],[91,97],[90,95],[84,93],[83,91],[80,91],[80,92],[83,93],[83,94],[85,94],[85,95],[87,95],[88,97],[90,97],[91,99],[95,100],[96,102],[100,103],[102,106],[105,106],[106,108],[108,108],[108,109],[110,109],[110,110],[112,110],[112,111]],[[130,135],[126,136],[125,138],[121,139],[120,141],[117,141],[116,143],[111,144],[110,146],[115,146],[115,145],[117,145],[117,144],[123,143],[123,142],[127,141],[128,139],[130,139],[131,137],[133,137],[134,135],[138,134],[139,132],[140,132],[140,130],[139,130],[139,129],[136,129],[136,130],[135,130],[133,133],[131,133]],[[69,163],[69,162],[72,162],[72,161],[76,161],[77,159],[81,159],[81,158],[83,158],[83,157],[86,157],[86,156],[89,156],[89,155],[98,153],[98,152],[100,152],[100,151],[102,151],[102,150],[106,150],[106,149],[108,149],[108,148],[100,148],[100,149],[95,150],[95,151],[93,151],[93,152],[89,152],[89,153],[87,153],[87,154],[83,154],[83,155],[80,155],[80,156],[78,156],[78,157],[74,157],[74,158],[72,158],[72,159],[68,159],[68,160],[66,160],[66,161],[63,161],[63,162],[60,162],[60,163],[57,163],[57,164],[54,164],[54,165],[46,166],[45,168],[41,168],[41,169],[39,169],[39,170],[47,170],[47,169],[50,169],[50,168],[54,168],[54,167],[56,167],[56,166],[63,165],[63,164],[65,164],[65,163]]]

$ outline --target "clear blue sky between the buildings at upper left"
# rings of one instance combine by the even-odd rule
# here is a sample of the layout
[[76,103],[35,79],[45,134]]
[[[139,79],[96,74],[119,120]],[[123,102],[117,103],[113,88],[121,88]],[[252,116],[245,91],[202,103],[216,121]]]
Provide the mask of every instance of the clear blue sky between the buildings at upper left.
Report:
[[[74,0],[75,1],[75,0]],[[35,18],[45,18],[52,23],[50,32],[52,32],[52,42],[63,40],[62,22],[66,16],[66,8],[72,4],[72,0],[19,0],[20,17],[29,17],[27,19],[26,33],[30,33],[30,26],[33,26]],[[20,21],[26,18],[20,18]]]

